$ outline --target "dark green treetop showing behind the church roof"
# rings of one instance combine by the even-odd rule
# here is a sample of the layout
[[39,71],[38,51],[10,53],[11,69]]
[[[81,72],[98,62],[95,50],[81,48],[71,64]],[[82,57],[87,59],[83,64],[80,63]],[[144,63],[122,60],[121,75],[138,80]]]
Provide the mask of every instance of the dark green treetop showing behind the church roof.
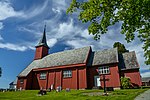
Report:
[[117,47],[118,48],[118,53],[125,53],[125,52],[129,52],[129,50],[127,50],[124,46],[124,44],[121,44],[120,42],[115,42],[113,45],[113,48]]

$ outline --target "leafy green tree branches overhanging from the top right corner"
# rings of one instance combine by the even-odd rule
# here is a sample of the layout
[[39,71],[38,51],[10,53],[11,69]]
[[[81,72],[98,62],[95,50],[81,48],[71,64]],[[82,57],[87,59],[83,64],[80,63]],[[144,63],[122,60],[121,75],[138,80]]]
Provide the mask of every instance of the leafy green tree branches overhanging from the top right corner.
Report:
[[145,63],[150,64],[150,0],[72,0],[67,13],[79,11],[78,18],[90,23],[89,34],[100,39],[108,27],[121,23],[121,33],[127,42],[136,36],[144,43]]

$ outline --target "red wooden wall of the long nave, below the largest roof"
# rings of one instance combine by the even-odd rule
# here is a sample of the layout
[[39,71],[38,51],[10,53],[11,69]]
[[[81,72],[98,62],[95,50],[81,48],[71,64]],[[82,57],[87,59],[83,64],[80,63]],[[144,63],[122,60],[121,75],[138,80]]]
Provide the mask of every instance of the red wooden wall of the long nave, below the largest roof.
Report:
[[[63,70],[72,70],[72,77],[63,78]],[[22,89],[48,89],[51,85],[56,87],[61,86],[62,89],[85,89],[87,88],[86,67],[76,67],[67,69],[47,70],[46,79],[40,79],[40,71],[31,72],[24,83],[20,84],[18,79],[18,88]]]

